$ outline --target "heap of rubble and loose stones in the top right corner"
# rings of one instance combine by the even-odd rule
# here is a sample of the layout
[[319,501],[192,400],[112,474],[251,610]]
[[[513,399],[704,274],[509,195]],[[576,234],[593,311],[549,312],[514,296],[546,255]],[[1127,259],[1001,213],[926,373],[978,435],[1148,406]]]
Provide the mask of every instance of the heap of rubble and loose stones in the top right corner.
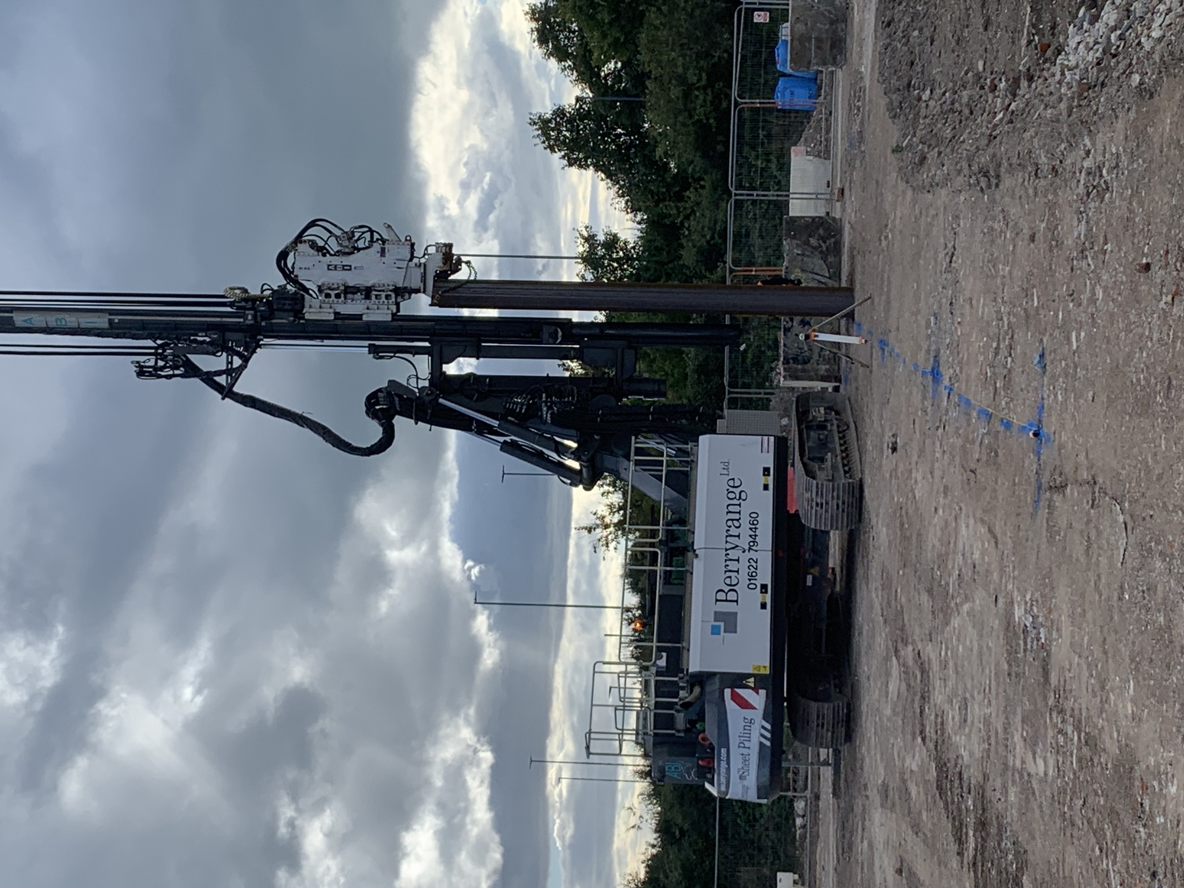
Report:
[[1184,64],[1184,0],[880,2],[879,79],[914,187],[987,191],[1062,172],[1100,120]]

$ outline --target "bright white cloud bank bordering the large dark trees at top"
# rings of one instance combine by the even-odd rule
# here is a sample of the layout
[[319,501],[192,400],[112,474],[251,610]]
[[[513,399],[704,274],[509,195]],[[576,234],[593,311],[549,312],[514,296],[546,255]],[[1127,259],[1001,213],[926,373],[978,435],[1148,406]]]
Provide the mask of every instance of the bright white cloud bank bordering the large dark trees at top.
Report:
[[[419,66],[412,143],[429,181],[431,237],[463,253],[571,253],[590,219],[625,227],[603,182],[533,143],[529,114],[571,84],[530,39],[520,0],[450,0]],[[574,277],[573,263],[481,260],[484,277]]]

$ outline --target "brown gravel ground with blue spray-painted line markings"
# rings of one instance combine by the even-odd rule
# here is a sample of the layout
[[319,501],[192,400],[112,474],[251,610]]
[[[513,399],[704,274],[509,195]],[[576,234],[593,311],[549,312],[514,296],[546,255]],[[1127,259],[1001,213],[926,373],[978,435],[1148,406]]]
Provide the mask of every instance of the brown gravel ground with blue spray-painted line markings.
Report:
[[1182,2],[858,0],[850,38],[837,883],[1184,884]]

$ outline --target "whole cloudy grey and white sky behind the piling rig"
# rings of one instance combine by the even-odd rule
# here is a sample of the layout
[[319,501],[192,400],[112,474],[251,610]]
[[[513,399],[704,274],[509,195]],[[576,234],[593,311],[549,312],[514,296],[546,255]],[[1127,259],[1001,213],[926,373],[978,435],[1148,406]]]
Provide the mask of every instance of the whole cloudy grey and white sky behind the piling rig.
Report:
[[[6,0],[0,284],[253,288],[314,215],[475,252],[620,225],[532,143],[568,92],[522,6]],[[242,388],[369,439],[390,368],[268,353]],[[124,359],[0,358],[0,886],[617,883],[630,787],[527,768],[577,751],[611,626],[472,604],[612,596],[594,497],[423,427],[346,457]]]

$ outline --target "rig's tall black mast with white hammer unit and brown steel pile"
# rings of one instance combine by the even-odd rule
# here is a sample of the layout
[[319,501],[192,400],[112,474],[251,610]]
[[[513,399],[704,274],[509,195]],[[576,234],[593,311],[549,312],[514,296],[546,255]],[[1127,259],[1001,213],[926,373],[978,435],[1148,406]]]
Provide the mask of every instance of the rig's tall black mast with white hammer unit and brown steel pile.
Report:
[[[343,229],[326,219],[303,226],[276,257],[283,279],[258,292],[220,295],[0,291],[0,354],[127,355],[141,379],[197,379],[220,398],[314,432],[346,453],[374,456],[394,442],[394,419],[469,432],[571,485],[592,488],[605,474],[625,477],[633,435],[687,440],[710,431],[710,410],[658,403],[665,382],[638,377],[637,349],[723,347],[734,326],[609,323],[565,317],[475,317],[433,310],[403,314],[424,294],[439,308],[590,309],[745,314],[832,314],[845,289],[680,287],[481,281],[452,245],[417,252],[391,226]],[[54,337],[40,341],[41,335]],[[85,342],[78,342],[84,337]],[[94,340],[105,340],[96,343]],[[366,445],[346,440],[302,413],[238,390],[265,348],[348,346],[412,366],[365,400],[380,427]],[[416,359],[426,360],[420,374]],[[448,373],[462,358],[578,361],[592,375]]]

